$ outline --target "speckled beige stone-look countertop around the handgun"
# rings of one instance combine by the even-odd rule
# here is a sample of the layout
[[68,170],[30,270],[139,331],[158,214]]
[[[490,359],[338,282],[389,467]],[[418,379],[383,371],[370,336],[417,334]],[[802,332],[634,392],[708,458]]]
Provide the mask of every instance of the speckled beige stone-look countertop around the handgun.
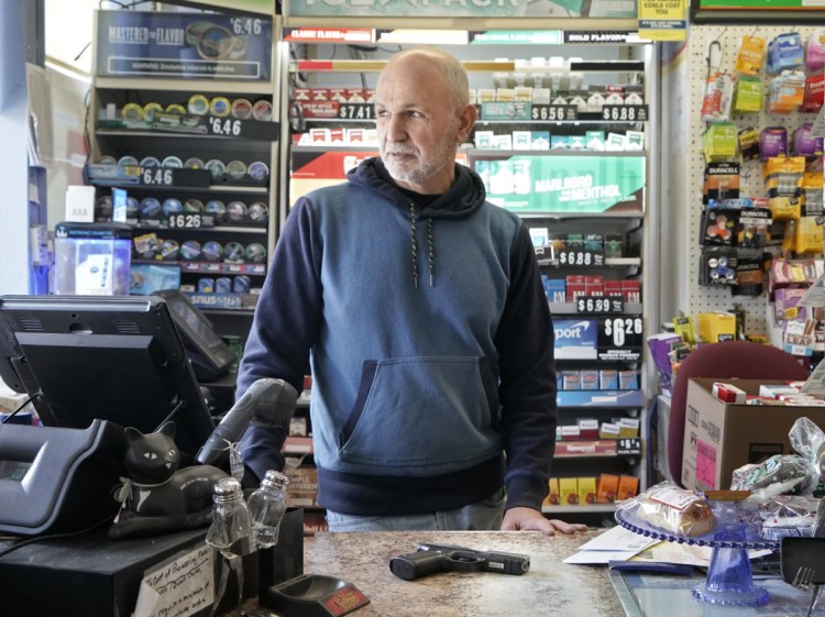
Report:
[[[607,570],[562,560],[596,532],[547,537],[528,531],[403,531],[318,533],[305,539],[304,572],[339,576],[370,598],[358,617],[466,617],[564,615],[617,617],[624,609]],[[514,576],[488,572],[435,574],[404,581],[389,571],[393,557],[421,542],[524,553],[530,570]]]

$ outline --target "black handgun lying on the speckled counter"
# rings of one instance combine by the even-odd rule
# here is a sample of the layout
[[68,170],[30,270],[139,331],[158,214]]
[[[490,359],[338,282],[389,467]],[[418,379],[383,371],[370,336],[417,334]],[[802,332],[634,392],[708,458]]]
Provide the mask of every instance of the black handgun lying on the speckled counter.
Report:
[[389,560],[389,570],[405,581],[415,581],[439,572],[524,574],[529,569],[529,555],[429,543],[419,544],[414,553],[406,553]]

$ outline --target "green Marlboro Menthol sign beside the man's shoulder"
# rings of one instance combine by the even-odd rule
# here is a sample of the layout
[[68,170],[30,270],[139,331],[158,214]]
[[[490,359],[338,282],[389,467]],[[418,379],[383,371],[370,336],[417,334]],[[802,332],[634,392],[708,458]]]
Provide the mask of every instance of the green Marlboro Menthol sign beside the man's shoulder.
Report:
[[642,212],[645,157],[510,156],[476,161],[487,198],[516,212]]

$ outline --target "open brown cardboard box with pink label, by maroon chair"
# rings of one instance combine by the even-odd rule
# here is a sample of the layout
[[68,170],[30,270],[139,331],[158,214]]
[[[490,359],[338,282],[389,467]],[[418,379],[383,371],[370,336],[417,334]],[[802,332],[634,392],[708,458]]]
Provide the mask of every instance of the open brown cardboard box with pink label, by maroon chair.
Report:
[[[696,491],[730,488],[734,470],[760,463],[774,454],[795,454],[788,432],[798,418],[807,417],[825,428],[825,407],[736,405],[713,395],[719,379],[698,378],[688,384],[682,484]],[[749,396],[768,379],[726,379]]]

